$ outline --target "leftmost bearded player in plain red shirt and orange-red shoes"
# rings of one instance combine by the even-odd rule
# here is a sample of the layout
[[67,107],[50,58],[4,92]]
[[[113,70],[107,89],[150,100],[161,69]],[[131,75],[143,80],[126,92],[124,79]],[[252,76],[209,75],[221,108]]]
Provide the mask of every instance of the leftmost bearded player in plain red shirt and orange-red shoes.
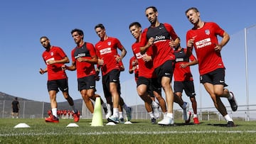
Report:
[[74,101],[68,93],[68,77],[63,70],[62,66],[65,63],[70,62],[65,52],[57,46],[50,45],[50,40],[46,36],[40,38],[40,42],[46,51],[43,52],[43,61],[46,62],[47,67],[43,70],[40,69],[40,74],[48,72],[47,88],[50,95],[50,106],[52,115],[46,118],[46,122],[58,123],[59,118],[57,116],[57,101],[56,95],[60,89],[63,92],[63,96],[67,99],[68,104],[73,109],[73,118],[75,122],[78,122],[80,115],[78,110],[75,109]]

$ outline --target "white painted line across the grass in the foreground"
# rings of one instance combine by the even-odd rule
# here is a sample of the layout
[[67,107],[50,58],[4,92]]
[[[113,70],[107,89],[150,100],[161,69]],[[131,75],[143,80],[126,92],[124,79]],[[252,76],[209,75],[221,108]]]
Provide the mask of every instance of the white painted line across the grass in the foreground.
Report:
[[[71,135],[160,135],[160,134],[196,134],[196,133],[256,133],[256,131],[118,131],[118,132],[92,132],[92,133],[72,133]],[[0,133],[0,137],[9,136],[36,136],[36,135],[70,135],[70,133]]]

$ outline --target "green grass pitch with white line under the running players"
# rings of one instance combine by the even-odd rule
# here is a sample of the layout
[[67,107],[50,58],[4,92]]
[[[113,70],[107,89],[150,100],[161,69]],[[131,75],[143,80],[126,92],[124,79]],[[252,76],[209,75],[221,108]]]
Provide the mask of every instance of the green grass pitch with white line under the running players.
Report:
[[[42,118],[0,119],[0,143],[256,143],[256,122],[235,121],[227,128],[225,121],[201,121],[199,125],[152,125],[149,120],[133,120],[132,124],[90,126],[90,119],[81,119],[79,127],[67,128],[72,119],[46,123]],[[26,123],[31,128],[14,128]]]

